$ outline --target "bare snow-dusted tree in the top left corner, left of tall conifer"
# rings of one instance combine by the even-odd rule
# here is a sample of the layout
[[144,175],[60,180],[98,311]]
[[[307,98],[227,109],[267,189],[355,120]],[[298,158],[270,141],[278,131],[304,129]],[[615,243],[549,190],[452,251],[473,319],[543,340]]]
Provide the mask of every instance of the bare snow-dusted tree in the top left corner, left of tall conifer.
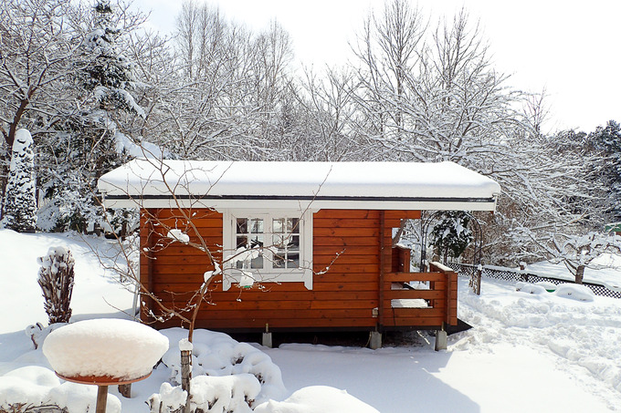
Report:
[[[4,199],[8,151],[16,130],[35,136],[72,108],[62,81],[75,68],[81,43],[69,0],[7,0],[0,6],[0,196]],[[35,127],[35,122],[37,125]],[[4,210],[4,208],[0,208]],[[2,211],[0,211],[2,212]],[[0,216],[2,213],[0,213]]]

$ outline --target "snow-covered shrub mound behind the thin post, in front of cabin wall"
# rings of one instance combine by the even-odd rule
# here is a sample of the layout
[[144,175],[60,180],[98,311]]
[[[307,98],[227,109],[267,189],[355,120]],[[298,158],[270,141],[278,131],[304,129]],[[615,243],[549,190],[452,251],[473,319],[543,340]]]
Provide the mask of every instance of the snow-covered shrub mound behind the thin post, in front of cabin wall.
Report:
[[[187,330],[168,328],[161,331],[171,342],[170,350],[163,355],[163,363],[171,369],[171,381],[181,384],[181,353],[175,346]],[[192,352],[193,380],[200,376],[226,377],[250,374],[258,380],[258,403],[269,398],[281,399],[287,394],[280,368],[258,348],[239,343],[230,336],[209,330],[195,330]],[[193,391],[194,393],[194,391]]]

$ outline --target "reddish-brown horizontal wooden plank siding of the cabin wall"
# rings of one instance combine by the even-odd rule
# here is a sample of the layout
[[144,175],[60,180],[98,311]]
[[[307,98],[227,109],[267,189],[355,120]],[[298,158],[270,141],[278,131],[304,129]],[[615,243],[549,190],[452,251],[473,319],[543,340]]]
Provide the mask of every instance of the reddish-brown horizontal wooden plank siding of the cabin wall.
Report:
[[[205,253],[182,243],[170,243],[165,238],[169,228],[183,230],[190,235],[191,242],[198,243],[196,229],[216,260],[222,260],[222,214],[196,210],[187,212],[187,216],[192,216],[192,225],[178,212],[142,211],[142,284],[168,307],[183,307],[202,284],[205,271],[213,269]],[[315,274],[312,290],[307,290],[302,283],[265,283],[260,288],[253,286],[247,290],[240,290],[233,284],[230,290],[222,291],[221,280],[217,280],[210,286],[208,303],[203,303],[195,326],[260,330],[269,325],[271,330],[279,330],[373,329],[378,324],[379,328],[383,325],[431,325],[432,317],[427,316],[428,313],[418,316],[416,312],[387,307],[394,293],[383,291],[386,283],[383,276],[390,279],[392,274],[401,274],[395,273],[393,263],[392,228],[398,227],[401,219],[419,217],[420,212],[415,211],[316,212],[313,215]],[[398,271],[403,271],[403,267]],[[438,279],[435,283],[439,289],[445,281]],[[446,303],[442,301],[446,297],[434,295],[429,299],[437,303],[437,308]],[[158,306],[149,300],[143,302],[142,318],[153,322],[149,310],[159,315]],[[394,321],[399,313],[404,313],[405,322]],[[441,320],[435,318],[434,321],[441,325]],[[181,323],[171,319],[155,325],[165,327]]]

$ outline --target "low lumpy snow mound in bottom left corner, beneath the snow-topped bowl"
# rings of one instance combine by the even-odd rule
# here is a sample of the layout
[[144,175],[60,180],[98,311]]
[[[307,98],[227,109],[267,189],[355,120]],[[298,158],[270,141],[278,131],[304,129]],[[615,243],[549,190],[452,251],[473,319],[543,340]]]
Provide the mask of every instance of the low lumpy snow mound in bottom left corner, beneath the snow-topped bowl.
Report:
[[[0,411],[14,411],[12,407],[26,405],[33,411],[57,411],[51,409],[56,406],[58,410],[86,412],[95,411],[97,404],[97,387],[60,384],[54,372],[45,367],[28,366],[9,371],[0,377],[0,389]],[[119,398],[108,395],[106,413],[120,412]]]

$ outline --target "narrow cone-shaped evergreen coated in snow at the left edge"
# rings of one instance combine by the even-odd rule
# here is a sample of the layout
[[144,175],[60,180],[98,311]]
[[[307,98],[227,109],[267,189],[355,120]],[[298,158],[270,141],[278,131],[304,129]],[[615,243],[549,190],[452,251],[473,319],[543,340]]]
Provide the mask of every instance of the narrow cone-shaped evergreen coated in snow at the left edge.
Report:
[[16,232],[35,232],[37,228],[35,155],[32,146],[30,132],[26,129],[17,130],[6,182],[5,211],[2,219],[2,226]]

